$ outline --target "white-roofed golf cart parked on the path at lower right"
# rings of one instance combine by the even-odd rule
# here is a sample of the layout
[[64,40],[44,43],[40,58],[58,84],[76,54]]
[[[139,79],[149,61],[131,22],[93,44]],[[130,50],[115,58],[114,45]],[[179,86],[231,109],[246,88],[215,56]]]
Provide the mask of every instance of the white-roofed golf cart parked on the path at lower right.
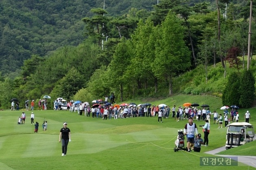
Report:
[[255,139],[253,126],[246,122],[236,122],[228,125],[226,149],[237,147]]

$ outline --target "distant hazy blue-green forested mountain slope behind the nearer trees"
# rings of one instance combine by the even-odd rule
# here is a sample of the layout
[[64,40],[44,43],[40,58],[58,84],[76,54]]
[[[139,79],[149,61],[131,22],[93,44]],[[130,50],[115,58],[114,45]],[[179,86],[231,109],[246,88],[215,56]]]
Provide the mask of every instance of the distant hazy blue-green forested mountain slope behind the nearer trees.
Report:
[[[106,0],[109,15],[128,12],[132,7],[152,9],[153,0]],[[1,0],[0,71],[20,69],[32,54],[47,56],[65,45],[77,46],[84,37],[83,17],[103,0]]]

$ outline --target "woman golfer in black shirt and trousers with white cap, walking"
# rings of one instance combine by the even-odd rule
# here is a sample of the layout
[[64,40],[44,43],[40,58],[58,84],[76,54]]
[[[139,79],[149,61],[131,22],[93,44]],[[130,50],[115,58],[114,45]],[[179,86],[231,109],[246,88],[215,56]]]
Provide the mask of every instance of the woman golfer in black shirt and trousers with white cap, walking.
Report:
[[67,127],[67,123],[63,123],[63,128],[61,128],[60,136],[59,136],[59,142],[61,142],[62,146],[62,155],[66,156],[67,154],[67,144],[68,142],[71,142],[71,136],[70,136],[70,129]]

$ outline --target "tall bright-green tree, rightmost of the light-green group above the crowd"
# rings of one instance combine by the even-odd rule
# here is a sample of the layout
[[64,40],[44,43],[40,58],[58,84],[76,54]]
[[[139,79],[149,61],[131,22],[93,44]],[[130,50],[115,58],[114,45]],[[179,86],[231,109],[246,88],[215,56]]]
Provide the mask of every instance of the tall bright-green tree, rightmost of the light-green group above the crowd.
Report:
[[155,53],[157,65],[153,71],[158,78],[167,77],[169,95],[172,95],[172,78],[190,67],[190,52],[183,40],[184,27],[174,13],[168,13],[162,26],[160,45]]

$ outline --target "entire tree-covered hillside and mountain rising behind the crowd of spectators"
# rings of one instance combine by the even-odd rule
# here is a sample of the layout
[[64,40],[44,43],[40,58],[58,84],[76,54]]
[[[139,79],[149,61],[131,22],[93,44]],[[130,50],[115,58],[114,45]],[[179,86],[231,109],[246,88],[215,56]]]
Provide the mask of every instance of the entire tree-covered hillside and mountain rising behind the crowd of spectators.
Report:
[[[1,1],[0,69],[16,71],[14,80],[0,77],[1,105],[13,97],[43,95],[84,101],[111,92],[119,101],[174,93],[221,95],[225,77],[245,68],[249,3],[146,2],[106,0],[104,10],[102,0]],[[251,54],[255,40],[252,34]],[[199,68],[202,75],[180,78]],[[215,88],[207,82],[220,83]]]

